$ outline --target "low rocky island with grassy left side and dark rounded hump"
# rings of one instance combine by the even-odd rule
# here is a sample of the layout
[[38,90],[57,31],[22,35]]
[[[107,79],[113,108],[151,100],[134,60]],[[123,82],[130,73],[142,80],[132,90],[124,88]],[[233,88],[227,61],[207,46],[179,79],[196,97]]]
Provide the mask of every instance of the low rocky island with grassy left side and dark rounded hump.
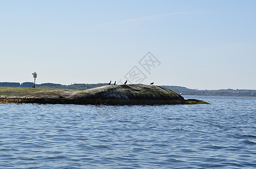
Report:
[[0,87],[0,103],[83,105],[208,104],[202,100],[185,100],[184,97],[172,90],[146,84],[107,85],[84,91]]

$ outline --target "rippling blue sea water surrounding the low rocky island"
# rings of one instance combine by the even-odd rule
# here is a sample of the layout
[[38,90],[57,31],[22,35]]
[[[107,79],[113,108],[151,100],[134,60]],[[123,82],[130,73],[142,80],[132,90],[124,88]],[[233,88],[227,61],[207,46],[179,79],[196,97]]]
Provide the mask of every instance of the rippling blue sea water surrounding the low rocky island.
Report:
[[0,104],[0,168],[256,168],[256,98]]

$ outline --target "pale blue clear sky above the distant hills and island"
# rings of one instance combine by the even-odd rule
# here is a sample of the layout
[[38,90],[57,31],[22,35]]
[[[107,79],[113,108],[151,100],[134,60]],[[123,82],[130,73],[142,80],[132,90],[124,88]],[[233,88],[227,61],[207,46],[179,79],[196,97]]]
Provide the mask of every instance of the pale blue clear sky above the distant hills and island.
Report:
[[255,6],[0,0],[0,82],[256,90]]

